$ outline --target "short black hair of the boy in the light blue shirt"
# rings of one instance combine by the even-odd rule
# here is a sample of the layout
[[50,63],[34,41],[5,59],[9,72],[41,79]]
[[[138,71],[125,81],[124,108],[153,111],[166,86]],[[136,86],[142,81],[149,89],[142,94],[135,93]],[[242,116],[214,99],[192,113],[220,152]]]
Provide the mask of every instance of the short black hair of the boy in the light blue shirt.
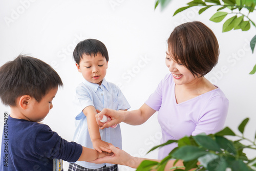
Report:
[[80,60],[82,59],[82,55],[90,55],[95,56],[100,53],[103,57],[106,58],[106,61],[109,61],[109,54],[108,50],[106,49],[105,45],[96,39],[86,39],[80,41],[73,52],[73,58],[76,63],[79,65]]

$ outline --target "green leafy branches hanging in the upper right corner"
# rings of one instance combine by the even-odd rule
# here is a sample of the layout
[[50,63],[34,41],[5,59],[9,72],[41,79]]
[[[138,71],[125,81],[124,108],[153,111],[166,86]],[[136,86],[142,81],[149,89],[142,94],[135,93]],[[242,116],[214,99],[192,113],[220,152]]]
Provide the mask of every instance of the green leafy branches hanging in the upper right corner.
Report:
[[[160,4],[161,9],[164,9],[170,0],[157,0],[155,4],[155,9]],[[223,24],[222,32],[228,32],[230,30],[250,30],[251,25],[256,28],[255,23],[249,18],[249,14],[256,11],[256,0],[193,0],[186,4],[187,6],[179,8],[175,11],[174,15],[188,9],[191,7],[199,6],[202,7],[199,10],[199,14],[202,14],[208,8],[218,7],[217,12],[210,17],[210,20],[215,23],[220,23],[226,18]],[[221,11],[225,10],[225,11]],[[227,12],[229,11],[229,12]],[[253,53],[255,48],[256,35],[250,41],[251,51]],[[256,72],[256,65],[249,74],[254,74]]]

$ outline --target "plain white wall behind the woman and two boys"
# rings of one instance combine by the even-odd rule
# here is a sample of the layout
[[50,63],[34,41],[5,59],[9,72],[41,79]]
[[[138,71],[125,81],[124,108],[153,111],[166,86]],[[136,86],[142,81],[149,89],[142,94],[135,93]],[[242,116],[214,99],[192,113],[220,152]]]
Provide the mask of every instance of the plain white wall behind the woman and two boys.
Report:
[[[155,0],[3,0],[0,2],[0,66],[22,53],[44,60],[58,72],[64,87],[53,100],[54,108],[44,123],[71,141],[75,116],[72,99],[75,87],[82,81],[72,53],[80,40],[96,38],[106,45],[110,56],[106,79],[120,86],[134,110],[144,103],[168,73],[164,60],[169,34],[181,23],[200,20],[219,40],[219,63],[206,77],[219,86],[230,101],[225,124],[238,133],[240,122],[249,117],[245,135],[253,139],[256,131],[256,74],[248,73],[256,63],[256,55],[249,48],[255,28],[247,32],[222,33],[223,22],[209,21],[215,9],[199,15],[199,8],[194,7],[173,17],[174,12],[187,2],[173,0],[161,11],[160,8],[154,10]],[[255,14],[250,17],[256,22]],[[1,104],[0,127],[3,127],[4,112],[10,110]],[[145,155],[159,144],[161,138],[157,114],[143,125],[121,123],[121,129],[126,152],[157,158],[157,151]],[[65,163],[65,170],[67,168],[68,163]],[[134,169],[120,166],[120,170]]]

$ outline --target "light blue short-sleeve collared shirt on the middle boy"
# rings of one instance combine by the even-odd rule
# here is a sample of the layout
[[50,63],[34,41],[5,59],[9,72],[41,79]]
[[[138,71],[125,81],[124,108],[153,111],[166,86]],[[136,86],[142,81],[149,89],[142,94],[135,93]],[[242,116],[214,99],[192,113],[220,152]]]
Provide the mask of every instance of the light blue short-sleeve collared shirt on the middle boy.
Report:
[[[113,83],[107,82],[105,78],[102,80],[101,86],[96,83],[84,80],[76,88],[76,102],[79,103],[79,114],[76,116],[76,130],[74,134],[74,141],[86,146],[93,148],[93,144],[88,132],[87,117],[83,114],[82,110],[89,105],[92,105],[97,110],[103,108],[109,108],[113,110],[125,110],[130,109],[128,101],[125,99],[121,90]],[[105,128],[100,130],[101,140],[112,143],[114,146],[122,148],[122,137],[120,125],[116,128]],[[76,164],[86,168],[100,168],[104,165],[111,166],[113,164],[103,163],[94,164],[84,161],[77,161]]]

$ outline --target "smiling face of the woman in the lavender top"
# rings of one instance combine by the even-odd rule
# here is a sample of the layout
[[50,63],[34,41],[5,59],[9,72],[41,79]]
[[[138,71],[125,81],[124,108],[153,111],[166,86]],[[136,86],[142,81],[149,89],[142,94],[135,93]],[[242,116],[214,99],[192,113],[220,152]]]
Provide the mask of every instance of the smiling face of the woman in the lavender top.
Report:
[[173,74],[174,82],[177,85],[193,83],[197,76],[194,75],[180,62],[173,60],[172,55],[169,51],[166,51],[165,64],[169,71]]

